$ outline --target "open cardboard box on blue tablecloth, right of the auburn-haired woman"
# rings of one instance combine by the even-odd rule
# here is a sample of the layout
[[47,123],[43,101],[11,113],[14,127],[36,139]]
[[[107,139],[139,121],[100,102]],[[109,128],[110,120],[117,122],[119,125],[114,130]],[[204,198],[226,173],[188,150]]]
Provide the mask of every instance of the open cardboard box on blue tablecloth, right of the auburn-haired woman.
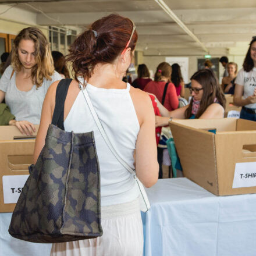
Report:
[[256,122],[194,119],[169,125],[185,177],[215,195],[256,193]]

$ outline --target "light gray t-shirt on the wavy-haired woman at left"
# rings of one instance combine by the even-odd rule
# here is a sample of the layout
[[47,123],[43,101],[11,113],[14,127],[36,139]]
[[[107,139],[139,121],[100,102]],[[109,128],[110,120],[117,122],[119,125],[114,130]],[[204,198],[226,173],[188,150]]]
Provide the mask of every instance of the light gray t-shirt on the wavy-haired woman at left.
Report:
[[0,79],[0,90],[5,92],[5,102],[17,121],[26,120],[38,125],[45,94],[54,81],[61,80],[61,75],[55,71],[51,76],[52,80],[44,79],[42,86],[38,89],[34,85],[30,91],[20,91],[16,87],[16,72],[10,79],[12,70],[12,66],[7,67]]

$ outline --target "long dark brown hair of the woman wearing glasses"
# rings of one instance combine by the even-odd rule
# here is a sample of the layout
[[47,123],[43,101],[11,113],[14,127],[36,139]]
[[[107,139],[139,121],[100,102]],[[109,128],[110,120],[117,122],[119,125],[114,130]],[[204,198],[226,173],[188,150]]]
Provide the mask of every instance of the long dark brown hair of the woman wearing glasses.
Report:
[[[198,109],[195,118],[200,118],[202,113],[208,108],[209,105],[216,101],[225,109],[226,98],[223,94],[222,88],[219,85],[218,79],[215,73],[211,69],[200,69],[191,76],[190,80],[195,80],[201,84],[202,98],[200,102],[200,108]],[[189,107],[185,111],[185,118],[189,119],[192,112],[193,99],[191,99]]]

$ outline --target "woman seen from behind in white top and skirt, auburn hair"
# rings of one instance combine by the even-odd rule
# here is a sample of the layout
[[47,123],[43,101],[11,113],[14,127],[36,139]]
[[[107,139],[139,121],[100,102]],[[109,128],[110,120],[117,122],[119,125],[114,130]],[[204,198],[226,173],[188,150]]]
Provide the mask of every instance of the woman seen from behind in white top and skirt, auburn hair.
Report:
[[[65,131],[94,131],[101,176],[101,225],[95,239],[53,244],[51,255],[143,255],[143,226],[134,177],[115,158],[99,133],[81,90],[87,90],[113,148],[151,187],[158,179],[155,116],[147,93],[122,81],[137,42],[134,23],[119,15],[97,20],[70,47],[74,80],[64,106]],[[81,85],[81,89],[79,88]],[[34,150],[44,147],[55,108],[58,82],[45,97]],[[134,155],[135,162],[134,165]],[[150,158],[148,157],[150,156]]]

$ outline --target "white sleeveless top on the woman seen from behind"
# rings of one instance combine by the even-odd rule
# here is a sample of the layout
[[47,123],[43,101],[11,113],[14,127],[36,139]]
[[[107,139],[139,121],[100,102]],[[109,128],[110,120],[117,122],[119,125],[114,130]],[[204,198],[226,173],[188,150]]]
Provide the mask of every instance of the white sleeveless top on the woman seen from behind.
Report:
[[[91,102],[113,147],[120,157],[134,168],[134,149],[140,125],[126,89],[105,89],[87,84]],[[119,163],[106,145],[80,91],[64,122],[66,131],[94,131],[101,173],[101,205],[122,204],[138,197],[138,188],[131,174]]]

